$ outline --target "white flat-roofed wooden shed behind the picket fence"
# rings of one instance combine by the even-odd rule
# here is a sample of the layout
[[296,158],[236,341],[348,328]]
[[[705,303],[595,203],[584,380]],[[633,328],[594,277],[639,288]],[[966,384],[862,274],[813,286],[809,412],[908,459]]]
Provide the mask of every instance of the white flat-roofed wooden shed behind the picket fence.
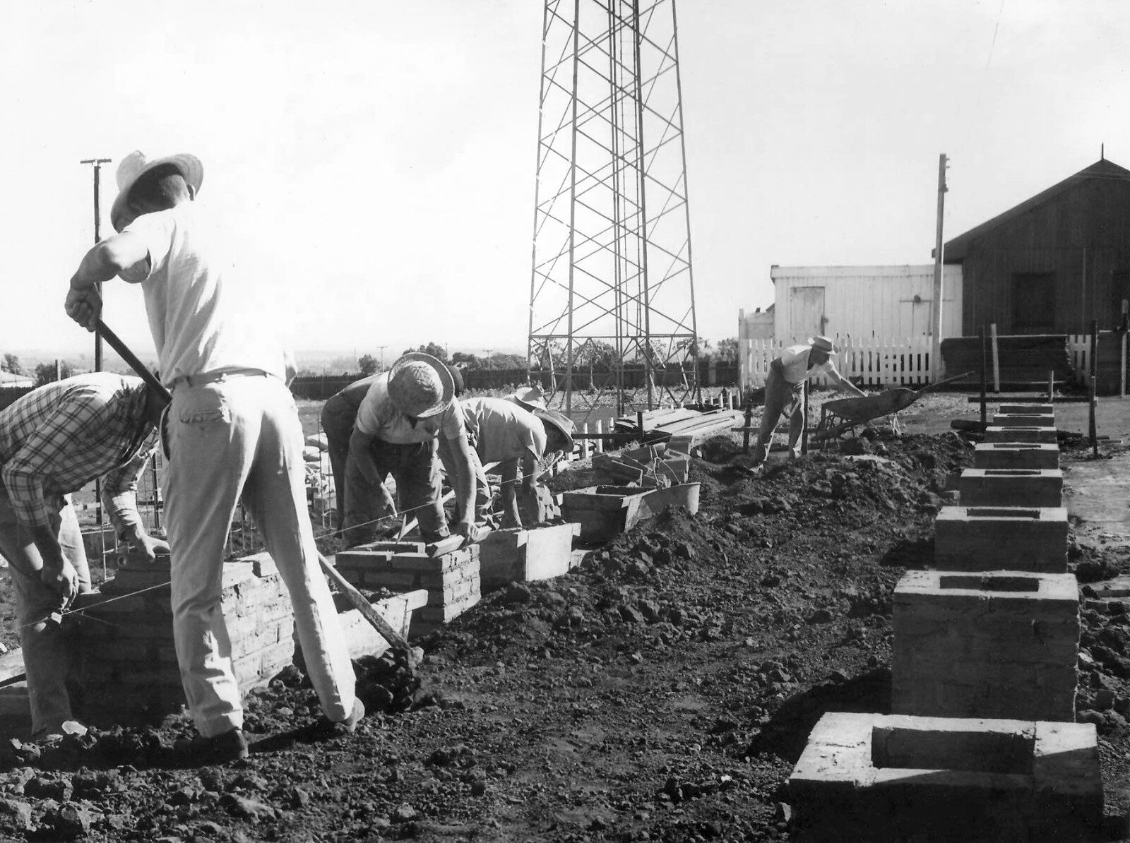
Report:
[[[835,337],[905,340],[930,333],[933,264],[890,267],[777,267],[774,336],[802,339]],[[942,334],[962,330],[962,268],[942,276]]]

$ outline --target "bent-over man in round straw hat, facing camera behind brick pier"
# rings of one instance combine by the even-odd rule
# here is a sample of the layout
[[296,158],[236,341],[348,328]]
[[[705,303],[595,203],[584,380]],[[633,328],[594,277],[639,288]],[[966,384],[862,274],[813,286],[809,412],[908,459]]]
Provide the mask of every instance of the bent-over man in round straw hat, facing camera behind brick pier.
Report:
[[[475,467],[454,379],[436,357],[410,351],[374,379],[357,409],[346,461],[342,538],[347,546],[372,541],[376,522],[397,512],[384,486],[390,473],[400,511],[419,521],[420,538],[438,541],[450,535],[436,438],[446,440],[455,455],[461,512],[473,513]],[[469,538],[472,527],[472,518],[464,515],[455,532]]]

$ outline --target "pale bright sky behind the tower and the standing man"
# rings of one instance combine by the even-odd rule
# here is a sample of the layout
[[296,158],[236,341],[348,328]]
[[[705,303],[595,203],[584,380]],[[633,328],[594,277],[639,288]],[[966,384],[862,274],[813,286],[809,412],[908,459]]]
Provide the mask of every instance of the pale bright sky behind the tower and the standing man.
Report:
[[[583,0],[590,2],[591,0]],[[0,3],[0,351],[88,344],[62,312],[130,150],[205,163],[264,319],[298,349],[522,349],[540,0]],[[770,266],[929,263],[1099,157],[1130,166],[1130,3],[681,0],[699,332]],[[252,231],[258,232],[251,236]],[[151,354],[140,290],[105,318]]]

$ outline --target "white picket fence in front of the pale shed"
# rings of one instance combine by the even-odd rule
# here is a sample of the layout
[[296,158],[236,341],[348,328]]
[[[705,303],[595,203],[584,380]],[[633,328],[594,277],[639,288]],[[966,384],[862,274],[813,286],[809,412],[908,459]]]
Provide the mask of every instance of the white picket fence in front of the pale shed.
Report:
[[[742,339],[738,345],[739,375],[742,388],[765,385],[770,364],[805,337],[776,339]],[[915,386],[930,381],[930,337],[893,339],[883,337],[835,337],[840,354],[833,359],[844,377],[859,379],[864,386]],[[828,385],[826,375],[816,375],[812,383]]]

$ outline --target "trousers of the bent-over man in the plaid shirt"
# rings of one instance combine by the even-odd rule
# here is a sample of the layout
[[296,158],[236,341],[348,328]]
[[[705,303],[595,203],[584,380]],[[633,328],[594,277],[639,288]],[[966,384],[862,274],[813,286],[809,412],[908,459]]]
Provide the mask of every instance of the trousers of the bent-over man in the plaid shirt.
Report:
[[[58,514],[52,514],[54,530],[63,556],[75,566],[78,590],[90,590],[90,572],[82,549],[82,533],[75,509],[68,499],[55,498]],[[27,673],[27,697],[32,710],[32,735],[59,731],[72,720],[67,677],[72,668],[68,634],[50,622],[51,612],[63,608],[62,598],[40,580],[43,559],[26,528],[16,521],[8,496],[0,486],[0,554],[8,560],[11,583],[16,591],[16,623],[24,651]]]

